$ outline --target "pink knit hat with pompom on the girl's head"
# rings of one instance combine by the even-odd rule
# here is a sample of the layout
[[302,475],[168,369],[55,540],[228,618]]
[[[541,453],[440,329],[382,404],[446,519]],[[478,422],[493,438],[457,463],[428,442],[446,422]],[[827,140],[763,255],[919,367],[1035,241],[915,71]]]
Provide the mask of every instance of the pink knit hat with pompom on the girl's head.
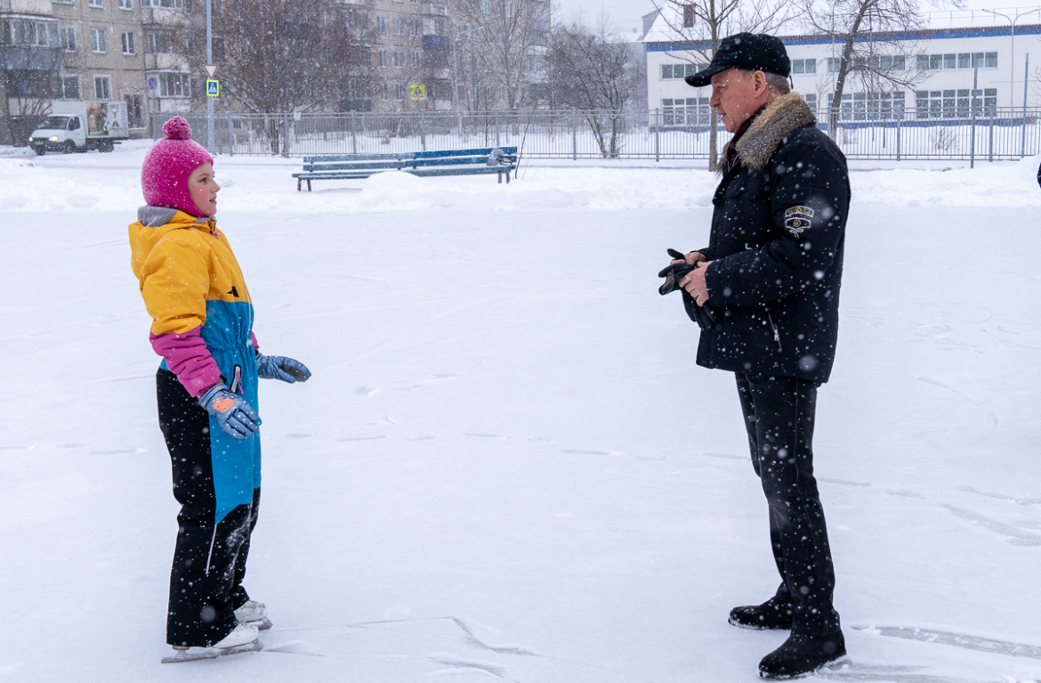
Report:
[[162,126],[167,135],[148,151],[141,169],[141,188],[149,206],[169,206],[202,218],[188,192],[188,176],[203,163],[212,163],[202,145],[192,140],[192,126],[174,117]]

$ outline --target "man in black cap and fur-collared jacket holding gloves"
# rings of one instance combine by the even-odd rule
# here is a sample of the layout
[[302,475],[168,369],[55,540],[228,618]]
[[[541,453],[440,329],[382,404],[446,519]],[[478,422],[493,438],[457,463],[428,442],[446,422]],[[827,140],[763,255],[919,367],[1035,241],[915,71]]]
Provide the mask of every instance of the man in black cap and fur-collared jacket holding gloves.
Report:
[[763,678],[803,676],[845,655],[812,438],[817,387],[831,374],[838,336],[849,178],[838,147],[789,93],[790,70],[781,41],[739,33],[686,78],[712,84],[710,104],[734,133],[709,246],[686,255],[697,268],[680,286],[712,312],[697,364],[736,375],[768,503],[781,586],[765,603],[730,613],[734,626],[791,631],[760,662]]

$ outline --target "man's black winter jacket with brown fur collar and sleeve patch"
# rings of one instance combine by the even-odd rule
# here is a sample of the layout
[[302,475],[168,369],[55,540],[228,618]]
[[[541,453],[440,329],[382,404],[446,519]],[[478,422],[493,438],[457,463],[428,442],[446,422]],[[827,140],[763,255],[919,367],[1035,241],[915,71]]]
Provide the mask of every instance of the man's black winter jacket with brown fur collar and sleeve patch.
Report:
[[737,142],[712,200],[707,273],[717,323],[697,364],[826,382],[838,339],[849,208],[845,157],[797,93],[775,98]]

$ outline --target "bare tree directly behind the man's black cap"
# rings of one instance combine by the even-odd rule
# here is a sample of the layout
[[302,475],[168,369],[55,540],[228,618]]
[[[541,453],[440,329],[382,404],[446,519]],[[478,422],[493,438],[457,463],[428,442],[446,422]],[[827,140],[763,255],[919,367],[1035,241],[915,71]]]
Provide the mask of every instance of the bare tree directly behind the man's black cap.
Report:
[[[677,56],[694,65],[707,65],[719,41],[748,31],[769,33],[792,19],[797,8],[784,0],[653,0],[668,32],[684,43]],[[809,0],[808,0],[809,1]],[[719,165],[718,117],[709,115],[709,170]]]

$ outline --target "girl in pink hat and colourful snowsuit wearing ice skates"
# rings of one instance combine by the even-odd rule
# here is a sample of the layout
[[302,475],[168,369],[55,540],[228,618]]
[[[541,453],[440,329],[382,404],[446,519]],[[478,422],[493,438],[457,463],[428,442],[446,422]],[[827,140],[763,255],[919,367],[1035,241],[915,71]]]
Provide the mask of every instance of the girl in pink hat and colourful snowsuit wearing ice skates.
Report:
[[145,157],[148,205],[130,225],[130,248],[162,356],[159,428],[181,504],[167,613],[176,661],[257,649],[257,627],[271,626],[242,585],[260,502],[257,379],[291,383],[310,372],[258,352],[249,289],[213,219],[213,158],[184,119],[162,132]]

